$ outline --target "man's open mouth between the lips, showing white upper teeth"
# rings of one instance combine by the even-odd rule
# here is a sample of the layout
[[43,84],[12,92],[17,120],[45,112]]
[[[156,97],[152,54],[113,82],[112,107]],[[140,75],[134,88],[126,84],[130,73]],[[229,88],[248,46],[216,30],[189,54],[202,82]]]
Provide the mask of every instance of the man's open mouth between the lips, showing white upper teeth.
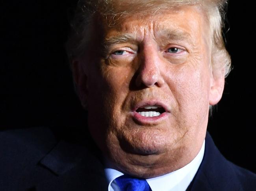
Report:
[[141,116],[145,116],[145,117],[155,117],[155,116],[160,116],[162,113],[165,112],[165,109],[161,106],[143,106],[143,107],[139,107],[136,110],[137,113],[139,113],[139,115]]

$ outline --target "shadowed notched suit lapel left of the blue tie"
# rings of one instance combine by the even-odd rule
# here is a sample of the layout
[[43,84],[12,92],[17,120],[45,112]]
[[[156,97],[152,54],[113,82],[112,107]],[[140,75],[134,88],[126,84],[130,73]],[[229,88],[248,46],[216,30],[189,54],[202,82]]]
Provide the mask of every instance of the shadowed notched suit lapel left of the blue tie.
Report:
[[40,162],[53,173],[37,191],[103,191],[108,189],[104,166],[85,146],[60,141]]

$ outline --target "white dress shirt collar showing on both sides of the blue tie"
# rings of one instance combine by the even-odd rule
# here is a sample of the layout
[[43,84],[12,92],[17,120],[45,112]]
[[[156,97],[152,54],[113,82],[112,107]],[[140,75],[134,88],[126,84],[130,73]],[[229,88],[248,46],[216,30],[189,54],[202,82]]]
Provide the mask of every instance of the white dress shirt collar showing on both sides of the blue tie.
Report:
[[[162,176],[146,179],[152,191],[186,191],[202,162],[204,147],[205,141],[197,156],[181,169]],[[105,168],[105,175],[109,183],[108,191],[120,191],[115,178],[124,174],[115,169]]]

